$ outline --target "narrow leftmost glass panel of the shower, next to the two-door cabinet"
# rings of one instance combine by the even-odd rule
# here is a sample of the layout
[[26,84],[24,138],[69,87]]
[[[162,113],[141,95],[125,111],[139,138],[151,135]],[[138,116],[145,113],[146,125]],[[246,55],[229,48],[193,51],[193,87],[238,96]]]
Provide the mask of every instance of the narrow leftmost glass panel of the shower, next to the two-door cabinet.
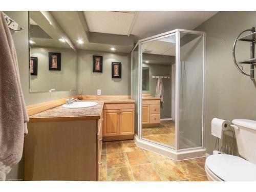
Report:
[[132,51],[132,98],[135,100],[135,134],[139,135],[139,46]]

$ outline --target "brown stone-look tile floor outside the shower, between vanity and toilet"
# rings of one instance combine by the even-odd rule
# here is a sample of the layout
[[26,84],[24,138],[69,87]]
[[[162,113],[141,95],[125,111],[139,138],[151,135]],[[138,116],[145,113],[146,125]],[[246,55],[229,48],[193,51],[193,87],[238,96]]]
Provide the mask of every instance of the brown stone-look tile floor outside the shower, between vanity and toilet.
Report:
[[101,161],[100,181],[208,181],[205,157],[174,161],[133,140],[104,142]]

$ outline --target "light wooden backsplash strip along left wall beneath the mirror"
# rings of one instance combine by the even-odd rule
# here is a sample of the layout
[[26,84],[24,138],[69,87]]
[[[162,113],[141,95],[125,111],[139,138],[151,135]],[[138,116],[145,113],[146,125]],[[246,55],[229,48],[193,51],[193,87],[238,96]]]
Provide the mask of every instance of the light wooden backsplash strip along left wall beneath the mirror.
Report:
[[61,99],[57,99],[57,100],[28,105],[28,106],[26,106],[28,115],[31,116],[36,113],[40,113],[42,111],[46,111],[46,110],[55,108],[55,106],[59,106],[61,104],[66,103],[66,99],[71,98],[71,97],[77,98],[77,95],[65,97],[65,98],[61,98]]

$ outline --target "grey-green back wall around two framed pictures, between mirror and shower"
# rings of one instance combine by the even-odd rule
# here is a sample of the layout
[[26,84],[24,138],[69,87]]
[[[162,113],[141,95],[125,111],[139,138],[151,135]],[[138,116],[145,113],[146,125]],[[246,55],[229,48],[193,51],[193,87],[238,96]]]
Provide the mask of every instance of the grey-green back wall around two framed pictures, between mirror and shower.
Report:
[[[93,73],[93,55],[103,56],[103,73]],[[131,95],[131,54],[78,50],[78,89],[83,95]],[[121,78],[112,78],[112,62],[121,62]]]

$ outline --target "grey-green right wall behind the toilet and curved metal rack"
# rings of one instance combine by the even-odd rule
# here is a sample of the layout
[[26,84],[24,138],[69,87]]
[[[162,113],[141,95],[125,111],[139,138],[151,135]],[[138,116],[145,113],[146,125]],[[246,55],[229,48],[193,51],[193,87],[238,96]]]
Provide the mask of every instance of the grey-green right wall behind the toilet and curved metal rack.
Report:
[[[255,18],[255,11],[219,12],[195,29],[205,31],[207,37],[205,144],[209,154],[216,141],[210,133],[212,118],[256,120],[256,83],[242,75],[232,60],[234,39],[241,31],[256,27]],[[248,49],[238,47],[237,51],[239,56],[249,55]],[[224,139],[230,141],[227,136]]]

